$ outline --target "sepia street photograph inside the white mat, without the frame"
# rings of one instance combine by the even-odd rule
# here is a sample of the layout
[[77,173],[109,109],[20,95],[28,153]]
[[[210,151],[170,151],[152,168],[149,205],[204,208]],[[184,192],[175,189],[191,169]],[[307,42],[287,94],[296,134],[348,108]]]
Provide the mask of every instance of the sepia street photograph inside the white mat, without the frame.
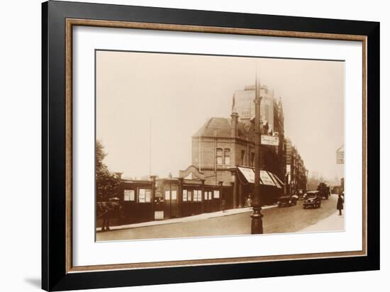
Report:
[[345,230],[345,63],[95,51],[96,241]]

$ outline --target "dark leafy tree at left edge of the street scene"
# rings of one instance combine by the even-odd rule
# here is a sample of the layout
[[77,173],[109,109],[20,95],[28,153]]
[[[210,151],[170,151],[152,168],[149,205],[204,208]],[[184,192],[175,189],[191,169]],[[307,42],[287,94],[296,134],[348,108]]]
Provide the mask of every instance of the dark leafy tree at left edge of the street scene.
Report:
[[116,196],[120,179],[108,170],[103,160],[107,154],[101,141],[96,140],[96,196],[98,201],[107,201]]

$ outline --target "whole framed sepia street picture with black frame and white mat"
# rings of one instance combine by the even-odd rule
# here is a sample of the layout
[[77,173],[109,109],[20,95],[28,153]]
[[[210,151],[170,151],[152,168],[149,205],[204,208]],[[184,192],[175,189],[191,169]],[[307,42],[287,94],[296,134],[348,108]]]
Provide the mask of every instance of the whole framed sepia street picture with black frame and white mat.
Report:
[[379,23],[42,7],[43,289],[379,269]]

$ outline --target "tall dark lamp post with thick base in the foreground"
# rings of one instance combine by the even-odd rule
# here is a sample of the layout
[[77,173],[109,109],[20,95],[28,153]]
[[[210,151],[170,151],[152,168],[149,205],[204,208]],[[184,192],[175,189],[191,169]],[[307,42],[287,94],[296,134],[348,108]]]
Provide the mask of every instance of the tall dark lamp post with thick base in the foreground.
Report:
[[[257,71],[257,70],[256,70]],[[262,234],[262,204],[260,198],[260,139],[261,139],[261,129],[260,129],[260,103],[262,101],[262,96],[260,95],[260,84],[257,84],[257,72],[256,72],[256,84],[255,84],[255,186],[253,198],[253,213],[250,215],[252,217],[252,234]]]

